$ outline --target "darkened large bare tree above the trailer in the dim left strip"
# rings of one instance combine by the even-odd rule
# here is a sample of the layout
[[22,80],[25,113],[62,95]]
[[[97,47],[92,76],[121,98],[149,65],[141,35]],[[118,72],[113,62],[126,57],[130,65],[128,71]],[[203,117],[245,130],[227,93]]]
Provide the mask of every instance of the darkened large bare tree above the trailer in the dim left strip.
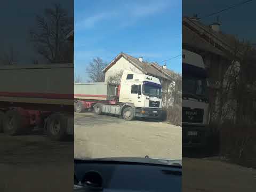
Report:
[[30,41],[38,54],[50,63],[73,61],[74,44],[66,35],[73,29],[73,18],[60,5],[44,10],[44,16],[36,15],[37,27],[29,31]]

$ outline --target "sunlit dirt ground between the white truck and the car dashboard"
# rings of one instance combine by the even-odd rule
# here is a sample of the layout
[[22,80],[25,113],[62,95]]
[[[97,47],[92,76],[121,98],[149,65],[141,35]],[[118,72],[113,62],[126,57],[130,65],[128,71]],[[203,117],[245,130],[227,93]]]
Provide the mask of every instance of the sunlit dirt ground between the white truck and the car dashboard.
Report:
[[181,127],[116,116],[75,114],[75,157],[181,159]]

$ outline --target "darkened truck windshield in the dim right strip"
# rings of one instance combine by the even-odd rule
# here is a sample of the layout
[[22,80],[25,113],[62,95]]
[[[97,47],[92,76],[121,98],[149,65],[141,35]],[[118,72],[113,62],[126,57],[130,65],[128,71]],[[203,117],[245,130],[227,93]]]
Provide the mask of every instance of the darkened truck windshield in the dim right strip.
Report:
[[206,78],[183,76],[182,91],[183,95],[194,95],[196,97],[207,98]]

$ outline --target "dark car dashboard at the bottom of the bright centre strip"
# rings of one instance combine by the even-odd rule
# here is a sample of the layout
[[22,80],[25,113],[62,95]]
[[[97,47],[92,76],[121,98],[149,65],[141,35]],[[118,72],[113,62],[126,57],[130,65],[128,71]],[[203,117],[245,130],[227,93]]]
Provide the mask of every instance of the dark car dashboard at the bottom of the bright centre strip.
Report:
[[74,191],[181,191],[180,164],[145,159],[75,159]]

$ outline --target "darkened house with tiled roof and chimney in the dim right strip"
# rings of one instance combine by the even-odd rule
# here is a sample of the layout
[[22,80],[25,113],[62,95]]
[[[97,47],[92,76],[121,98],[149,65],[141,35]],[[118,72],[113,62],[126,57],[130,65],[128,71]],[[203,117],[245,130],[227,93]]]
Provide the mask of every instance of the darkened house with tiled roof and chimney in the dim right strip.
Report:
[[[219,108],[224,105],[222,89],[225,83],[223,82],[226,81],[230,67],[234,67],[231,63],[242,61],[248,46],[239,42],[234,35],[223,33],[219,22],[205,25],[199,18],[184,17],[182,19],[182,49],[195,52],[203,57],[209,74],[212,120],[220,122],[222,116],[225,116],[224,111],[226,115],[234,116],[234,110],[230,110],[232,107],[223,108],[223,113],[219,113]],[[253,49],[253,46],[250,49]],[[253,60],[253,54],[251,59]],[[231,106],[230,103],[227,105]]]

